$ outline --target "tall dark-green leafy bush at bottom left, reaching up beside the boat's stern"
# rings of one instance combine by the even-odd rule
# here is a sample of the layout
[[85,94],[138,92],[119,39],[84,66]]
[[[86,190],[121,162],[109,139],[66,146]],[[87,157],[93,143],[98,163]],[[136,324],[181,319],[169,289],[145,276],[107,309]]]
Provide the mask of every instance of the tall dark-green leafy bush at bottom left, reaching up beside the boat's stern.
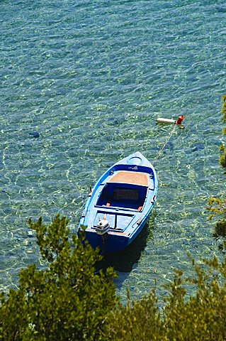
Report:
[[69,243],[67,220],[60,215],[45,227],[29,221],[47,269],[28,266],[19,289],[1,296],[0,340],[104,340],[103,327],[115,307],[113,269],[96,274],[98,251],[81,238]]

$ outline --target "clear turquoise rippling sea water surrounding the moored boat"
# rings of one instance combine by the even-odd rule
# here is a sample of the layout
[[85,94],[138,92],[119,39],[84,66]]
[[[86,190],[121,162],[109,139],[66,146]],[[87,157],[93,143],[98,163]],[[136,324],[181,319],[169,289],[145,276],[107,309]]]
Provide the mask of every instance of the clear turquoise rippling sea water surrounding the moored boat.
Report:
[[[60,212],[76,232],[89,186],[135,151],[159,194],[137,242],[108,259],[122,298],[155,280],[164,294],[174,268],[191,274],[187,251],[218,254],[205,204],[225,188],[225,0],[2,0],[0,33],[0,289],[42,264],[28,217]],[[181,114],[157,158],[172,131],[157,117]]]

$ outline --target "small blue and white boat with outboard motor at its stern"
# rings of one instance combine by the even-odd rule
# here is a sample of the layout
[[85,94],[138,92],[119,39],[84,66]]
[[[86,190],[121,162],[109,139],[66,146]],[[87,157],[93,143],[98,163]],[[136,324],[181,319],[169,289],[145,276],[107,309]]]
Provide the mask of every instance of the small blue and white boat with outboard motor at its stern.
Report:
[[140,233],[157,199],[157,173],[139,151],[98,179],[79,221],[89,244],[102,252],[125,249]]

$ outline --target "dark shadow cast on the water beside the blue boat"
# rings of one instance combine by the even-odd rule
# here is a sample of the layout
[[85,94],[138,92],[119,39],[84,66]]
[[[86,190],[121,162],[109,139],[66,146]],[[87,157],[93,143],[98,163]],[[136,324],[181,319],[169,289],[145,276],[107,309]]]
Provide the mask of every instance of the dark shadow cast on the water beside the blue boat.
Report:
[[153,210],[145,227],[128,247],[118,252],[103,254],[103,260],[98,262],[97,270],[105,270],[108,266],[113,266],[115,271],[124,273],[132,271],[147,246],[147,242],[153,239],[155,217],[156,211]]

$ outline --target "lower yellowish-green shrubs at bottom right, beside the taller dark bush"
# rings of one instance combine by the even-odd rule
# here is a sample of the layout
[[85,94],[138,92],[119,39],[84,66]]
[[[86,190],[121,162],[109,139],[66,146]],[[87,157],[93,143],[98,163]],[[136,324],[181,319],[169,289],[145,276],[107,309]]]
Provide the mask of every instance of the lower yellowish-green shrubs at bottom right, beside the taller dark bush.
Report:
[[[118,305],[106,324],[107,340],[225,340],[226,261],[205,261],[205,270],[191,262],[196,276],[183,279],[183,272],[175,271],[162,314],[154,290],[132,305]],[[189,285],[196,286],[196,295],[186,296]]]

